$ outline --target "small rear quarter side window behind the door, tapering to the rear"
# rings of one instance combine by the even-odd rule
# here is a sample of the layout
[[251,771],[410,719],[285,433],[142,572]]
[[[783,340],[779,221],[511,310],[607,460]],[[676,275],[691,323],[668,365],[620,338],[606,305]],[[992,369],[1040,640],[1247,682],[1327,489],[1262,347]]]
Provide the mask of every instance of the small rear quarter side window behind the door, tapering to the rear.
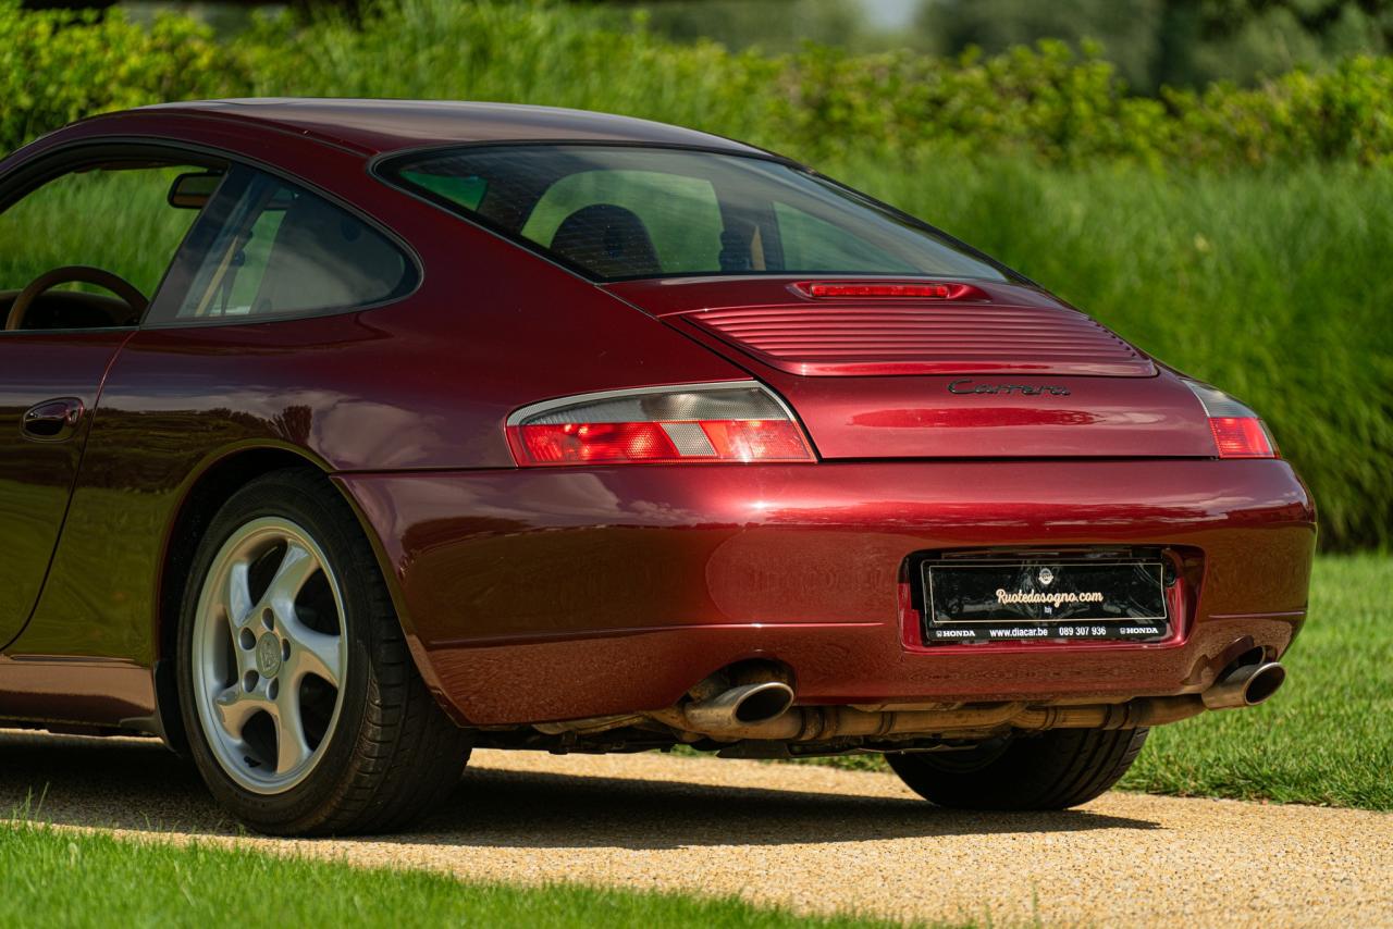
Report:
[[188,291],[160,323],[354,309],[408,294],[415,266],[382,233],[322,196],[233,167],[184,269]]

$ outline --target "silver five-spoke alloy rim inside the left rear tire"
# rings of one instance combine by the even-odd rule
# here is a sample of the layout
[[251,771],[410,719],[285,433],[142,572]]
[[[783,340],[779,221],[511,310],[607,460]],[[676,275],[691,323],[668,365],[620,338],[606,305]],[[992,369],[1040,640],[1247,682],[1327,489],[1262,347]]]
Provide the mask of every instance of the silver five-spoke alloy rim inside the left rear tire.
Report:
[[348,667],[338,581],[311,535],[279,517],[237,529],[203,579],[191,650],[198,719],[227,776],[256,794],[305,780]]

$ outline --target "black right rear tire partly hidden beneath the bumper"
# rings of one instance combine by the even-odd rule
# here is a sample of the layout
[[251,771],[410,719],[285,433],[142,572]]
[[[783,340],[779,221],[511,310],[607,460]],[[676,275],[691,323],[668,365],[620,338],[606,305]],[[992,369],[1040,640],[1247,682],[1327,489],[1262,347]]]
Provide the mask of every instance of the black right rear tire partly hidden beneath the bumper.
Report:
[[1107,793],[1137,760],[1146,731],[1056,728],[885,758],[910,790],[939,806],[1066,809]]

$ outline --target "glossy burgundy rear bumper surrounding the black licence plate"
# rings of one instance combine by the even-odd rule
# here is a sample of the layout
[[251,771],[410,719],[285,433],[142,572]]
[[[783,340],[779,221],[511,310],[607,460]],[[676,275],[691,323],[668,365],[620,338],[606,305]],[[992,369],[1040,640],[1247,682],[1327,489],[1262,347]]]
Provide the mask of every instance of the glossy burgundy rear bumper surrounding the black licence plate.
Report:
[[[1283,461],[678,465],[343,474],[417,662],[460,721],[655,710],[749,657],[801,703],[1197,692],[1305,617],[1315,513]],[[1185,549],[1159,643],[918,642],[907,556]]]

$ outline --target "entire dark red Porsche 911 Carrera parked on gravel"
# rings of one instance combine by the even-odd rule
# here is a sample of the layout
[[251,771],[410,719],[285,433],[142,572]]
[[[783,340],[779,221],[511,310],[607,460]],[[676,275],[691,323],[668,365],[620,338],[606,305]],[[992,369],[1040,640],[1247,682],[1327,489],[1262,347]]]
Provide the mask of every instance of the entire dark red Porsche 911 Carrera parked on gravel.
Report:
[[472,747],[1068,806],[1305,617],[1251,409],[761,149],[188,103],[0,208],[0,717],[159,735],[259,830],[397,827]]

